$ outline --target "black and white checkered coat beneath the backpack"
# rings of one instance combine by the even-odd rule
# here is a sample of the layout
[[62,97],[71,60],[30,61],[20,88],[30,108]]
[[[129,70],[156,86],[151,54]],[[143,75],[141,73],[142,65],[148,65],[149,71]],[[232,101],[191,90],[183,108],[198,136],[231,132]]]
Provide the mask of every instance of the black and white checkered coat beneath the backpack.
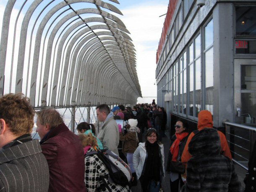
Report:
[[[92,151],[94,149],[89,148],[89,151]],[[115,183],[110,183],[108,179],[104,179],[104,182],[101,178],[101,176],[107,176],[109,171],[107,170],[104,163],[98,158],[97,154],[94,154],[92,156],[87,156],[85,158],[85,174],[84,174],[84,183],[86,186],[86,189],[88,192],[94,192],[95,189],[100,188],[100,192],[109,192],[109,189],[111,192],[129,192],[130,189],[128,185],[126,187],[122,187]],[[107,189],[106,184],[109,187]]]

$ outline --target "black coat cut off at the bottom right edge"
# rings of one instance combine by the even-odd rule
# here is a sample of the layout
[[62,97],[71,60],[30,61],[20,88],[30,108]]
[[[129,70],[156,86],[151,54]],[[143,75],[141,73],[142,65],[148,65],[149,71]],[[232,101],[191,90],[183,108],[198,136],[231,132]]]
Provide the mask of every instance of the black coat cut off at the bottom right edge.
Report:
[[256,141],[248,163],[248,175],[244,182],[246,184],[245,192],[254,192],[256,190]]

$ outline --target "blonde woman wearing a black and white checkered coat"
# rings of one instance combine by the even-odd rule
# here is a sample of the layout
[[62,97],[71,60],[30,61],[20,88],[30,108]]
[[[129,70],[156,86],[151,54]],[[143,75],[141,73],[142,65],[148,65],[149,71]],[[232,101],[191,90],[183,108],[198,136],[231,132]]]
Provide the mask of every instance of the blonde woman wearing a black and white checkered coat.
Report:
[[[81,144],[84,147],[84,155],[87,152],[98,150],[97,139],[89,133],[78,134],[81,140]],[[121,185],[110,183],[108,180],[109,171],[104,163],[98,158],[97,154],[87,156],[84,158],[85,173],[84,173],[84,184],[88,192],[129,192],[129,186],[122,187]]]

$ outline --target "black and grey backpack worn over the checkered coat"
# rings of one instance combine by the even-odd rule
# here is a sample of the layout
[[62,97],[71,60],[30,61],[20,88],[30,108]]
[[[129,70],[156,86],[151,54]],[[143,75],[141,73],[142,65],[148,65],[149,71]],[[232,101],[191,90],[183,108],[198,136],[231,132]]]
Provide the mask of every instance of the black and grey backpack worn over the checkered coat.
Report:
[[90,151],[86,153],[85,157],[97,154],[99,159],[104,163],[109,171],[108,179],[112,179],[115,184],[123,187],[131,182],[131,169],[118,155],[108,149]]

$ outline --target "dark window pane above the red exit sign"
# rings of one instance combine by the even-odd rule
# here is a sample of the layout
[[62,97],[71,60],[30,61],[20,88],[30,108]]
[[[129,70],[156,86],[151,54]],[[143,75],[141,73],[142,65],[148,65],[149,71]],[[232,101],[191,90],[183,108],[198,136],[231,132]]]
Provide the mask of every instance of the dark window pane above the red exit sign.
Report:
[[236,35],[256,35],[255,13],[256,7],[235,8]]

